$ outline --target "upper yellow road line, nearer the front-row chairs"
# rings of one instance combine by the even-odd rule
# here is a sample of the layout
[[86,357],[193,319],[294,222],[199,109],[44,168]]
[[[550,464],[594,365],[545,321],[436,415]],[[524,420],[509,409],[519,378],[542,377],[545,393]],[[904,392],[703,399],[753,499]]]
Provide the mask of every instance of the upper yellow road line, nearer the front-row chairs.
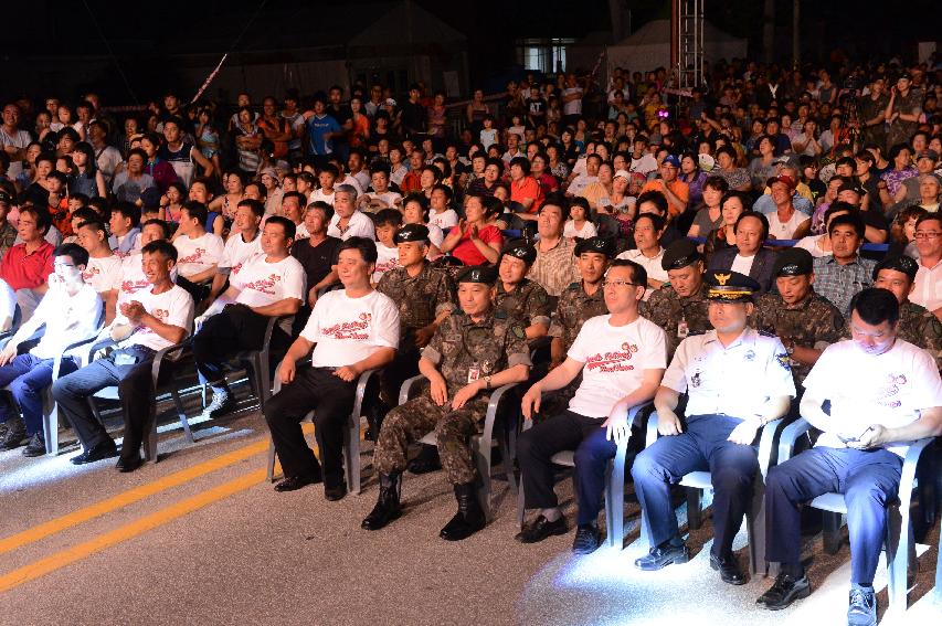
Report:
[[[303,427],[306,434],[314,431],[313,424],[303,424]],[[0,554],[4,554],[11,550],[22,548],[23,545],[33,543],[34,541],[39,541],[51,534],[62,532],[72,527],[78,526],[80,523],[102,517],[114,510],[133,505],[134,502],[138,502],[156,494],[160,494],[161,491],[178,487],[184,482],[189,482],[190,480],[210,474],[211,471],[215,471],[216,469],[234,465],[267,449],[268,439],[266,438],[265,441],[237,448],[192,467],[188,467],[187,469],[182,469],[154,480],[152,482],[147,482],[135,487],[134,489],[128,489],[117,496],[95,502],[94,505],[72,511],[71,513],[66,513],[47,522],[40,523],[15,534],[11,534],[10,537],[0,539]]]

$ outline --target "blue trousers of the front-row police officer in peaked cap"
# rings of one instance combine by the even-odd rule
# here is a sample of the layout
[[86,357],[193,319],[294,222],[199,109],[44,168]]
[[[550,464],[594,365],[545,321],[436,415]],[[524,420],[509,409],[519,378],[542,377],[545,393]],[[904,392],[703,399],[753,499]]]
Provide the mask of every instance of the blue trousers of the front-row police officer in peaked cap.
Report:
[[684,433],[660,437],[635,458],[632,478],[650,528],[652,548],[679,534],[670,485],[690,471],[709,470],[713,481],[711,551],[717,556],[730,553],[742,516],[752,501],[752,485],[759,471],[753,446],[727,441],[740,423],[729,415],[691,415]]

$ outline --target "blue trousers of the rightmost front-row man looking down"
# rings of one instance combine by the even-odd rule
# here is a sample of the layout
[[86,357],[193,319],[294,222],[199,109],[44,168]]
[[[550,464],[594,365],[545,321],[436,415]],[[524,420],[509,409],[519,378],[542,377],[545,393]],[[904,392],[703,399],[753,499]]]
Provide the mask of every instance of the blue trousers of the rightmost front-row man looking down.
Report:
[[844,494],[850,582],[872,584],[887,532],[887,505],[899,492],[901,473],[902,459],[882,448],[812,448],[773,467],[765,480],[766,559],[797,566],[802,560],[798,505],[823,494]]

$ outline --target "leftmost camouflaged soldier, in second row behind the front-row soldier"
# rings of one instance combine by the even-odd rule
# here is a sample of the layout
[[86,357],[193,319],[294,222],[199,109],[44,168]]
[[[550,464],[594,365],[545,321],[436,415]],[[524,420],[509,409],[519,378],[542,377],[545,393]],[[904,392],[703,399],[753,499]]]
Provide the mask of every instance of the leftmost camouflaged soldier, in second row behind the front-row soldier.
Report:
[[406,224],[393,241],[399,248],[400,266],[383,274],[377,285],[377,291],[392,298],[399,308],[399,349],[380,379],[381,397],[387,406],[396,405],[402,382],[419,373],[420,351],[454,308],[454,285],[448,273],[425,261],[428,229]]

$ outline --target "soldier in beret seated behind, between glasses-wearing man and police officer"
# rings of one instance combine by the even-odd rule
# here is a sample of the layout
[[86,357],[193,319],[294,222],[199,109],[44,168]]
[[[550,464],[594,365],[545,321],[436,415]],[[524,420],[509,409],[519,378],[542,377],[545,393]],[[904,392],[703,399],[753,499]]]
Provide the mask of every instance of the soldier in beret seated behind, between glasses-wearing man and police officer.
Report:
[[689,240],[674,242],[664,251],[660,266],[670,282],[642,303],[641,314],[667,333],[667,357],[670,359],[688,335],[706,332],[712,325],[707,312],[703,261],[697,246]]

